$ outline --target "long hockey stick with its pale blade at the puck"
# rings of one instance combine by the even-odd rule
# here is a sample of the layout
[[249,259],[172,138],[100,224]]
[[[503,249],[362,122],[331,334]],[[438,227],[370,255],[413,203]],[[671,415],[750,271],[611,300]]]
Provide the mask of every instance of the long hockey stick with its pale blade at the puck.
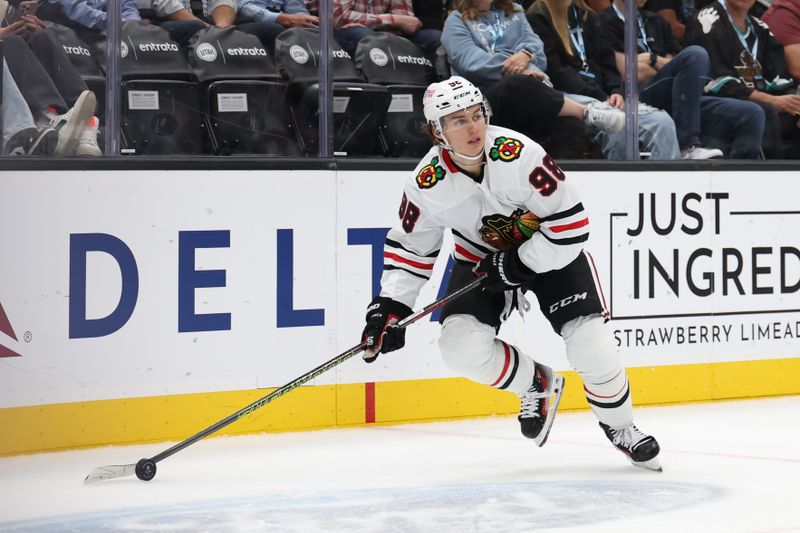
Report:
[[[466,294],[467,292],[471,291],[472,289],[474,289],[475,287],[480,285],[482,280],[483,280],[483,276],[475,279],[470,284],[465,285],[464,287],[458,289],[457,291],[453,292],[452,294],[449,294],[449,295],[445,296],[444,298],[442,298],[440,300],[437,300],[437,301],[433,302],[432,304],[427,305],[426,307],[423,307],[422,310],[417,311],[413,315],[408,316],[408,317],[404,318],[403,320],[401,320],[400,322],[398,322],[397,326],[400,327],[400,328],[406,328],[406,327],[410,326],[414,322],[420,320],[421,318],[426,317],[427,315],[429,315],[432,312],[436,311],[437,309],[441,308],[446,303],[448,303],[448,302],[450,302],[452,300],[455,300],[459,296],[462,296],[463,294]],[[300,385],[302,385],[302,384],[304,384],[304,383],[306,383],[308,381],[311,381],[312,379],[324,374],[325,372],[327,372],[328,370],[332,369],[333,367],[344,363],[345,361],[347,361],[348,359],[350,359],[351,357],[353,357],[357,353],[360,353],[361,351],[365,350],[366,348],[367,348],[366,341],[362,341],[361,344],[353,346],[352,348],[350,348],[346,352],[340,353],[339,355],[337,355],[336,357],[334,357],[330,361],[319,365],[314,370],[306,372],[305,374],[303,374],[299,378],[295,379],[294,381],[291,381],[291,382],[287,383],[286,385],[284,385],[283,387],[280,387],[279,389],[275,389],[274,391],[270,392],[266,396],[254,401],[253,403],[251,403],[247,407],[243,407],[242,409],[239,409],[238,411],[236,411],[235,413],[231,414],[230,416],[228,416],[226,418],[223,418],[222,420],[220,420],[216,424],[213,424],[213,425],[207,427],[206,429],[200,431],[199,433],[196,433],[195,435],[192,435],[188,439],[179,442],[178,444],[172,446],[171,448],[169,448],[167,450],[164,450],[163,452],[159,453],[158,455],[154,455],[153,457],[151,457],[149,459],[140,459],[139,462],[135,463],[135,464],[108,465],[108,466],[101,466],[101,467],[95,468],[94,470],[92,470],[89,473],[88,476],[86,476],[86,479],[84,479],[83,482],[84,482],[84,484],[88,485],[89,483],[95,483],[97,481],[102,481],[102,480],[105,480],[105,479],[114,479],[114,478],[119,478],[119,477],[130,476],[131,474],[136,474],[136,477],[138,477],[142,481],[150,481],[156,475],[156,463],[158,463],[159,461],[162,461],[162,460],[166,459],[170,455],[178,453],[179,451],[181,451],[182,449],[186,448],[187,446],[190,446],[190,445],[194,444],[195,442],[197,442],[200,439],[203,439],[203,438],[211,435],[212,433],[216,433],[217,431],[219,431],[220,429],[224,428],[228,424],[231,424],[231,423],[239,420],[240,418],[249,415],[250,413],[252,413],[256,409],[260,409],[261,407],[264,407],[265,405],[267,405],[271,401],[277,400],[278,398],[280,398],[284,394],[288,394],[289,392],[293,391],[294,389],[296,389]]]

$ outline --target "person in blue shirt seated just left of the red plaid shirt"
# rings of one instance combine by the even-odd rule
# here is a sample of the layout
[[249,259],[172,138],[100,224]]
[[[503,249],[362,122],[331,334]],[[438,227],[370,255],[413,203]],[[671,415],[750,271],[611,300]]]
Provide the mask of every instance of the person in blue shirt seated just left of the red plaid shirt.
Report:
[[303,0],[240,0],[236,20],[244,31],[250,27],[247,23],[256,23],[269,50],[275,49],[275,38],[286,28],[319,27],[319,17],[309,14]]

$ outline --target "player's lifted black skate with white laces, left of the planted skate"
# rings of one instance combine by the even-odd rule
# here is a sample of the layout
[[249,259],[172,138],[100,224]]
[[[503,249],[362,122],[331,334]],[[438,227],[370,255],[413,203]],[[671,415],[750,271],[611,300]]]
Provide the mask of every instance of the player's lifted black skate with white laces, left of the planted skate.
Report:
[[537,363],[531,388],[520,395],[517,419],[522,434],[534,439],[539,447],[547,442],[563,392],[564,376],[553,374],[549,367]]

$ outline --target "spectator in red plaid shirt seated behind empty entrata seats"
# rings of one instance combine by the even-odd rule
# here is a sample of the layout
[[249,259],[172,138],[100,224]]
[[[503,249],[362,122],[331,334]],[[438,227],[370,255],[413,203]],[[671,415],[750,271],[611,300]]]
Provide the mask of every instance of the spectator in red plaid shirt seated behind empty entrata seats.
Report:
[[373,31],[408,37],[426,54],[439,48],[442,32],[425,29],[414,15],[411,0],[333,0],[333,37],[354,56],[358,41]]

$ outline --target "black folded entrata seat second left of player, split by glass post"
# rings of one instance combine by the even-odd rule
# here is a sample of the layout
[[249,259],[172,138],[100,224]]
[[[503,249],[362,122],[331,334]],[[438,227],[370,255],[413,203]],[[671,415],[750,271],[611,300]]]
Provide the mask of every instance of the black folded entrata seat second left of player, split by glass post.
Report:
[[[338,156],[384,155],[381,134],[391,96],[385,87],[366,83],[350,55],[332,42],[333,152]],[[275,41],[275,59],[289,81],[289,109],[305,153],[319,146],[319,33],[289,28]]]

